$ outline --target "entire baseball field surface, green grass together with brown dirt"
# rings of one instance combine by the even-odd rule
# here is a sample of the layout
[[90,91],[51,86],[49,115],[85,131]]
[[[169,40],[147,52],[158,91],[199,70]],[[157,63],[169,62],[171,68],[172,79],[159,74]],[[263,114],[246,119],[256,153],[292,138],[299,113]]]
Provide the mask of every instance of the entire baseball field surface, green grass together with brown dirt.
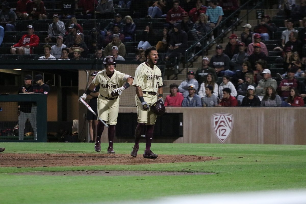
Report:
[[[0,203],[124,203],[306,189],[306,146],[152,143],[157,159],[93,143],[0,143]],[[144,203],[144,202],[143,202]]]

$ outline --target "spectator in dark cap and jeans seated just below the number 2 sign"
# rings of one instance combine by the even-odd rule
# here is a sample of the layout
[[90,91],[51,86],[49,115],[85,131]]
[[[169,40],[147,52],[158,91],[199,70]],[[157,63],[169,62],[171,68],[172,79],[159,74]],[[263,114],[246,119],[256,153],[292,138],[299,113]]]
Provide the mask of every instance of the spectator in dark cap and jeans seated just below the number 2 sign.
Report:
[[262,21],[255,26],[254,32],[259,33],[263,40],[269,40],[273,33],[277,31],[276,25],[271,23],[270,16],[265,15],[261,19]]

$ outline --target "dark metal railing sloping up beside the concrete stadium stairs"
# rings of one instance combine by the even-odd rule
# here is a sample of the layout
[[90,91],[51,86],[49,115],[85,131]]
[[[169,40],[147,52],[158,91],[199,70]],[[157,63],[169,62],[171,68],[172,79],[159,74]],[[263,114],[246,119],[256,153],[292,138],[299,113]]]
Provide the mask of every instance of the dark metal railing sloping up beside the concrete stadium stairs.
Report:
[[[187,50],[185,50],[185,64],[187,64],[186,67],[188,67],[188,63],[194,61],[194,58],[197,57],[202,53],[202,55],[205,55],[206,50],[212,46],[212,44],[215,44],[215,42],[218,42],[220,38],[223,38],[226,32],[229,32],[233,30],[235,26],[237,26],[238,22],[243,19],[245,16],[247,17],[246,23],[248,23],[248,14],[253,11],[256,8],[259,8],[261,6],[261,9],[263,10],[263,3],[264,0],[260,0],[256,3],[255,6],[253,6],[251,9],[249,9],[250,3],[253,3],[254,0],[248,0],[245,2],[242,6],[239,7],[235,12],[230,14],[226,19],[222,20],[218,26],[213,28],[210,32],[208,32],[206,35],[204,35],[200,40],[196,41],[192,46],[190,46]],[[241,12],[241,10],[247,10],[247,13],[243,16],[237,17],[237,14]],[[236,19],[234,19],[236,18]],[[229,24],[230,22],[235,22],[232,23],[230,26],[226,28],[226,25]],[[218,36],[215,38],[215,40],[209,41],[209,36],[211,36],[211,33],[214,31],[218,31]],[[196,52],[195,48],[197,46],[197,43],[201,43],[201,49],[200,51]]]

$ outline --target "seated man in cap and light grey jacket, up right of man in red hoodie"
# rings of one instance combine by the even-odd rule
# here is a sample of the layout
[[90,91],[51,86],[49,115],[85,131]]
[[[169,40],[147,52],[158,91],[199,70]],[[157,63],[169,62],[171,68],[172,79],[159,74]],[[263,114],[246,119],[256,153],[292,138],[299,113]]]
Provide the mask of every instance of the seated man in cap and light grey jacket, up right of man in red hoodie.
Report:
[[53,15],[53,23],[48,27],[48,36],[45,38],[45,43],[56,43],[56,37],[64,37],[66,33],[65,24],[60,21],[58,14]]

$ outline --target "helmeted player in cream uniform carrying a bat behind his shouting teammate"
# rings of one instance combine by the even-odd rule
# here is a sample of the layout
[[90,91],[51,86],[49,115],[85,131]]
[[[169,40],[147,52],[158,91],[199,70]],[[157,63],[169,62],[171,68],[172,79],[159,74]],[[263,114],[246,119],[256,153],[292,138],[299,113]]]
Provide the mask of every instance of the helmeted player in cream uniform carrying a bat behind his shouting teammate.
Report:
[[[98,116],[109,125],[107,153],[114,154],[115,125],[119,112],[119,95],[133,83],[133,78],[127,74],[115,70],[116,62],[113,56],[104,58],[104,70],[98,72],[85,93],[80,96],[84,100],[94,90],[100,86],[97,99]],[[101,151],[101,136],[104,124],[99,121],[97,125],[97,139],[95,140],[95,151]]]

